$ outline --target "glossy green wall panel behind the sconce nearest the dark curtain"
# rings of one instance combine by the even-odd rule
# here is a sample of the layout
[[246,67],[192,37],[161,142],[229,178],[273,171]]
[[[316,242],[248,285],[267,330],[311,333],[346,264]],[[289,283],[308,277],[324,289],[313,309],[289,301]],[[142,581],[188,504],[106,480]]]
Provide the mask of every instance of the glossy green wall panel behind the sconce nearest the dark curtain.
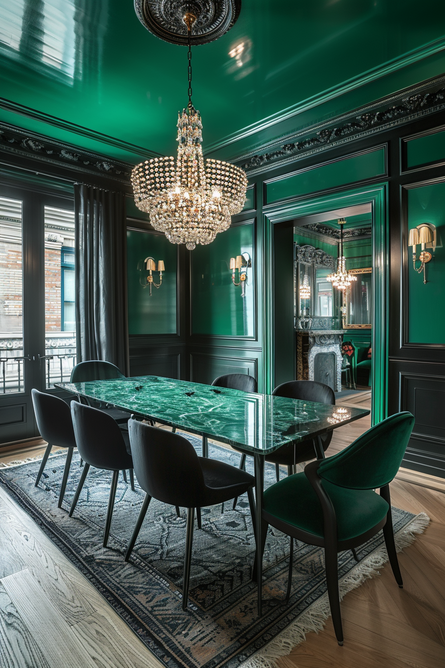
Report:
[[[137,263],[153,257],[165,264],[162,285],[159,289],[142,287],[139,283]],[[153,275],[159,283],[159,274]],[[128,283],[128,333],[130,335],[175,334],[177,246],[163,234],[127,230],[127,283]]]

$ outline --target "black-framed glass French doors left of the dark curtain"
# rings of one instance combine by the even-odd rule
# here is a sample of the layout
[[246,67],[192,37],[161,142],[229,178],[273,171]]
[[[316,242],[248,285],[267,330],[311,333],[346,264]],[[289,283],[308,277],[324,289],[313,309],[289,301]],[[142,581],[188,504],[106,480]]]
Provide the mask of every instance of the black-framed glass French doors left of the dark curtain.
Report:
[[31,389],[75,364],[73,196],[0,183],[0,446],[38,436]]

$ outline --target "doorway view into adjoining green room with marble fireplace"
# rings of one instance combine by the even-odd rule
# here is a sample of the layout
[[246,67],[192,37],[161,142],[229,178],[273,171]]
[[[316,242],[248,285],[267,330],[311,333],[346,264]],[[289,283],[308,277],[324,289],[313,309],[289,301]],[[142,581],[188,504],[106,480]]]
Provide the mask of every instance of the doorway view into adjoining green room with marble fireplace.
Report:
[[[343,256],[352,276],[345,290],[328,277]],[[371,407],[372,206],[359,204],[294,219],[296,379],[324,382],[336,403]]]

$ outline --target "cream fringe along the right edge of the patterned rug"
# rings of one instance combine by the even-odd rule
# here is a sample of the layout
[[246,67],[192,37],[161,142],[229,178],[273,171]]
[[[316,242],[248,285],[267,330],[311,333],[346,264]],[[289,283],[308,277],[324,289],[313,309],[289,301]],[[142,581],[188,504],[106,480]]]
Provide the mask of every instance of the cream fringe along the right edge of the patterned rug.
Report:
[[[397,552],[401,552],[416,540],[415,534],[422,534],[430,518],[420,512],[409,524],[394,535]],[[380,575],[381,568],[388,561],[388,553],[383,543],[372,554],[354,566],[348,575],[339,580],[340,601],[344,595],[360,587],[365,580]],[[280,635],[274,638],[266,647],[250,657],[240,665],[240,668],[277,668],[277,661],[292,652],[292,650],[306,640],[306,633],[318,633],[324,629],[326,620],[331,616],[328,593],[315,601],[298,619],[290,624]]]

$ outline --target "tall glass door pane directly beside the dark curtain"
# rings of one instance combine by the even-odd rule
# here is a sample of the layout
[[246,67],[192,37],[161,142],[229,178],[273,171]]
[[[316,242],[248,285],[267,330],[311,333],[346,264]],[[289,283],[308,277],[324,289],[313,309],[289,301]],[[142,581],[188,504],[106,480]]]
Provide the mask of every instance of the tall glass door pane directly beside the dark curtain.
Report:
[[45,206],[46,386],[68,381],[75,365],[74,213]]

